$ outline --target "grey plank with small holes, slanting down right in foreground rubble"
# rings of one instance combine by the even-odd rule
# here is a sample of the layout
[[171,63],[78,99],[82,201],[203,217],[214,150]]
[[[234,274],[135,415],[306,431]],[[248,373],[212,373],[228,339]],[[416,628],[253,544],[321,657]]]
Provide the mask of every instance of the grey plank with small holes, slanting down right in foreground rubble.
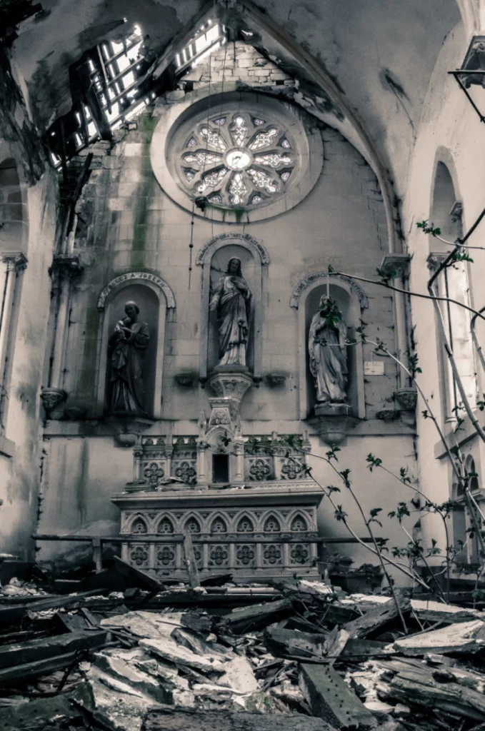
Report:
[[328,664],[301,662],[298,685],[313,715],[334,727],[371,728],[377,725],[375,716]]

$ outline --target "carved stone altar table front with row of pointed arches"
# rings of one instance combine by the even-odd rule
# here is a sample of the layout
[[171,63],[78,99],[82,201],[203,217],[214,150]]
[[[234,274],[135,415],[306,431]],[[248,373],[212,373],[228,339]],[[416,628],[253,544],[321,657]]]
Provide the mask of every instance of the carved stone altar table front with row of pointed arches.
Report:
[[121,556],[159,577],[184,578],[183,534],[189,531],[203,577],[317,576],[317,506],[311,482],[248,490],[169,491],[113,496],[121,510]]

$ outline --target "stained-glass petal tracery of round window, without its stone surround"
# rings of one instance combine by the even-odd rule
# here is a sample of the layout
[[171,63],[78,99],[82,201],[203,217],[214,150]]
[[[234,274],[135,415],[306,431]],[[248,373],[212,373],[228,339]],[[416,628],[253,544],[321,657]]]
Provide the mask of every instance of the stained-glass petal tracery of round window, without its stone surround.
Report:
[[189,133],[181,173],[194,197],[246,208],[285,192],[296,151],[284,126],[249,112],[209,118]]

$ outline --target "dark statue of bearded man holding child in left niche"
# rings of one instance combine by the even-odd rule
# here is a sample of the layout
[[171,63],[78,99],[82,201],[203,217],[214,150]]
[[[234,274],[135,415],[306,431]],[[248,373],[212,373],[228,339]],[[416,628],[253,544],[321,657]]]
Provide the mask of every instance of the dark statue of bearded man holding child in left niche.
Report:
[[146,415],[144,408],[143,364],[150,334],[138,319],[135,302],[124,306],[127,317],[116,322],[109,340],[111,361],[110,412]]

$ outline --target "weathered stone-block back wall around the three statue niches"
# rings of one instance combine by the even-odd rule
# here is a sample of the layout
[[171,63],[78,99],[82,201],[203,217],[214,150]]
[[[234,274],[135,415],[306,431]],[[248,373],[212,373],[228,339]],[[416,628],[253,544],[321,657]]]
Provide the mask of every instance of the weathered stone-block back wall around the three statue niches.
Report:
[[[155,114],[162,113],[159,106]],[[116,446],[113,432],[102,420],[93,418],[97,393],[98,364],[102,348],[102,325],[97,298],[105,284],[130,270],[147,270],[162,276],[176,299],[176,310],[168,314],[165,330],[162,420],[146,435],[195,434],[200,411],[208,412],[208,394],[195,377],[192,387],[177,385],[179,371],[198,373],[202,270],[195,266],[199,249],[220,233],[249,233],[262,243],[270,263],[263,279],[263,376],[279,370],[287,373],[282,387],[271,388],[263,378],[259,388],[245,395],[241,416],[245,434],[301,433],[307,425],[299,421],[298,311],[290,308],[290,295],[301,279],[326,270],[328,265],[347,273],[372,277],[386,247],[383,203],[372,171],[338,132],[322,129],[325,147],[323,171],[312,192],[287,213],[254,224],[231,225],[211,221],[210,209],[194,226],[194,251],[189,286],[189,213],[181,210],[159,188],[151,172],[149,145],[157,117],[150,113],[138,118],[138,129],[124,133],[124,139],[108,155],[99,156],[99,167],[91,173],[78,213],[83,219],[78,230],[76,253],[85,265],[75,281],[64,368],[64,388],[69,401],[86,404],[88,419],[82,423],[50,422],[45,430],[48,468],[42,480],[42,515],[39,530],[113,535],[119,516],[110,496],[123,490],[132,479],[132,451]],[[372,338],[394,343],[391,297],[380,287],[365,285],[369,308],[363,317]],[[140,312],[143,317],[143,312]],[[364,360],[380,360],[364,345]],[[384,473],[366,470],[370,451],[364,436],[381,456],[392,454],[393,463],[409,466],[413,474],[413,428],[399,423],[383,423],[376,413],[393,408],[396,368],[385,360],[384,376],[365,379],[366,420],[342,445],[339,469],[349,467],[359,474],[358,491],[364,509],[383,506],[383,514],[394,510],[404,499],[399,483],[389,487]],[[304,374],[301,374],[304,377]],[[68,401],[68,404],[69,404]],[[386,443],[377,435],[386,434]],[[315,454],[328,447],[312,437]],[[316,457],[315,477],[334,484],[336,476],[323,469]],[[345,491],[345,488],[342,488]],[[358,508],[348,494],[336,500],[355,526],[365,535]],[[339,533],[342,526],[333,518],[334,508],[320,507],[321,531]],[[383,531],[394,530],[384,523]],[[380,532],[380,531],[379,531]],[[342,530],[345,534],[345,529]],[[42,543],[38,558],[48,560],[64,553],[66,546]],[[79,551],[72,546],[75,554]],[[365,549],[354,550],[356,565],[372,561]]]

